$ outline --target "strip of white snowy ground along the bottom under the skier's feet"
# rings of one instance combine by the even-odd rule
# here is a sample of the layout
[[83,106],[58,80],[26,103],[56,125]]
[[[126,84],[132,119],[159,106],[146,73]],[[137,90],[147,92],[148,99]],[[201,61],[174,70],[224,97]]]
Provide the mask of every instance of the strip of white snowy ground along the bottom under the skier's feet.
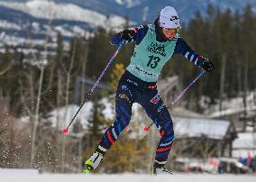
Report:
[[20,174],[20,173],[0,173],[1,182],[254,182],[255,177],[245,175],[138,175],[138,174],[118,174],[118,175],[98,175],[98,174]]

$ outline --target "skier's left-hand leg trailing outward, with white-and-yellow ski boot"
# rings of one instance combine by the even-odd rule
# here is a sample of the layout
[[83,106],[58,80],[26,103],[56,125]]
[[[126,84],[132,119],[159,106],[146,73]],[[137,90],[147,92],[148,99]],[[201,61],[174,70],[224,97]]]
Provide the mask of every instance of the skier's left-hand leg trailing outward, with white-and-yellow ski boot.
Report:
[[115,121],[105,131],[96,152],[86,161],[84,173],[95,169],[103,159],[106,150],[114,144],[123,129],[130,123],[133,105],[133,95],[129,85],[120,81],[115,96]]

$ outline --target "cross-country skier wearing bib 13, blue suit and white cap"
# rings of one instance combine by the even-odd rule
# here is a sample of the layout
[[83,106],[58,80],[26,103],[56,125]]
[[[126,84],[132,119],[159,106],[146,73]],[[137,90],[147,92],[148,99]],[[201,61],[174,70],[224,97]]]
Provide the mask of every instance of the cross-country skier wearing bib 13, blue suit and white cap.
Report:
[[130,65],[120,78],[116,89],[114,123],[105,131],[99,145],[85,163],[84,173],[95,169],[104,158],[123,129],[130,123],[133,103],[142,105],[161,133],[153,164],[153,174],[170,172],[164,167],[173,145],[173,123],[166,105],[157,90],[156,82],[165,63],[174,55],[181,54],[198,68],[211,71],[214,64],[179,37],[181,28],[176,10],[166,6],[153,24],[141,25],[133,30],[114,34],[112,44],[135,41]]

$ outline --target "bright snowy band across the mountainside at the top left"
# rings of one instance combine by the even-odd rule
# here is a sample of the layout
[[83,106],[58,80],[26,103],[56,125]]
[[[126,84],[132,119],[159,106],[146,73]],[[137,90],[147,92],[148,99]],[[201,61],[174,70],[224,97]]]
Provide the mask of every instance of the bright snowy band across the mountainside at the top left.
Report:
[[[74,4],[56,4],[53,1],[32,0],[26,3],[0,1],[0,5],[37,18],[78,21],[89,23],[93,27],[103,26],[106,22],[105,14],[99,14]],[[119,26],[125,23],[125,20],[121,16],[110,14],[110,23]]]

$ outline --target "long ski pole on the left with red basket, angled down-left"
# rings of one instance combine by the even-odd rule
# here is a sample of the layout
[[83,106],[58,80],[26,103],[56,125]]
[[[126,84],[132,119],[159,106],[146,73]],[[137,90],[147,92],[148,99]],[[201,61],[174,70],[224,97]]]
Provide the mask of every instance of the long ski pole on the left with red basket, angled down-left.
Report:
[[77,117],[78,113],[80,112],[80,110],[82,109],[82,107],[85,105],[85,103],[87,102],[87,100],[90,98],[90,96],[93,94],[96,86],[98,85],[98,83],[100,82],[101,78],[105,75],[105,71],[106,69],[110,66],[110,64],[113,62],[114,58],[116,57],[116,55],[118,54],[118,52],[121,50],[121,48],[123,47],[124,41],[122,41],[121,44],[119,44],[117,50],[114,52],[114,55],[112,56],[112,58],[108,61],[105,69],[103,70],[103,72],[101,73],[101,75],[97,78],[95,85],[87,92],[87,96],[86,99],[83,101],[82,105],[79,106],[77,113],[73,116],[71,122],[69,123],[68,127],[66,129],[63,129],[62,132],[65,134],[69,131],[69,126],[71,125],[71,123],[74,122],[75,118]]

